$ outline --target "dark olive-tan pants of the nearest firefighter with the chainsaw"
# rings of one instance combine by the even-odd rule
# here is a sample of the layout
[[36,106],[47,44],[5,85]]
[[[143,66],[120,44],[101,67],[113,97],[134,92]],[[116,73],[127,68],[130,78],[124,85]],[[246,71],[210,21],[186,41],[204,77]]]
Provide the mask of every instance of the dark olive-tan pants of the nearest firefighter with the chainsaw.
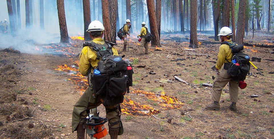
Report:
[[[76,131],[80,121],[88,116],[86,109],[93,109],[101,104],[102,102],[100,101],[100,98],[98,98],[91,87],[88,87],[85,93],[83,93],[83,95],[74,105],[72,113],[72,132]],[[108,118],[108,126],[110,126],[111,123],[120,120],[121,112],[118,109],[119,106],[120,104],[117,104],[113,107],[106,107],[106,118]],[[119,128],[119,126],[120,124],[118,123],[111,126],[111,128]]]

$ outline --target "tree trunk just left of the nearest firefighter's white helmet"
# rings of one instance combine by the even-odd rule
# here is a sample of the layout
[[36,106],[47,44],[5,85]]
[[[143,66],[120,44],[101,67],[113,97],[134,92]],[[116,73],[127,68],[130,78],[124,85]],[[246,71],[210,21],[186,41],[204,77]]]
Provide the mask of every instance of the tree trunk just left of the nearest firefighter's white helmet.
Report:
[[83,0],[83,13],[84,13],[84,39],[85,41],[91,40],[88,32],[88,25],[91,23],[90,18],[90,3],[89,0]]

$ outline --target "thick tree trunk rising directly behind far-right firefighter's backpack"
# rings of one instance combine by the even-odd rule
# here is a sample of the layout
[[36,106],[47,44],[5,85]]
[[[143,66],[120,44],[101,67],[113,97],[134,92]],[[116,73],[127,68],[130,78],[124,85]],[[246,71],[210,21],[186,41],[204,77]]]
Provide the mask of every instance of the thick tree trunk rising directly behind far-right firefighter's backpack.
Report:
[[239,12],[238,12],[238,25],[237,25],[237,33],[235,41],[238,44],[243,44],[243,35],[244,35],[244,27],[245,27],[245,0],[239,0]]

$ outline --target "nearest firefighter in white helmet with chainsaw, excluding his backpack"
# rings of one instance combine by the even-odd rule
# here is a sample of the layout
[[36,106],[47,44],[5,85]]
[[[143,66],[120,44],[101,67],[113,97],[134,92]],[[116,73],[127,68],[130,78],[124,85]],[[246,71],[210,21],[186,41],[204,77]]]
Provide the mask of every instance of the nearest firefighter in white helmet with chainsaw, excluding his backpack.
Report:
[[[96,44],[105,44],[106,42],[102,39],[104,34],[104,26],[100,21],[92,21],[89,26],[88,30],[90,37],[92,38],[92,42]],[[118,52],[116,48],[112,47],[113,55],[118,56]],[[80,54],[80,64],[79,64],[79,71],[82,73],[83,76],[88,75],[88,71],[90,66],[92,69],[90,72],[93,72],[93,69],[97,66],[97,63],[100,59],[97,59],[96,51],[90,49],[89,46],[84,46],[82,52]],[[77,139],[84,139],[85,138],[85,131],[86,131],[86,122],[85,118],[87,113],[90,109],[96,108],[102,104],[100,98],[94,93],[93,87],[89,86],[80,99],[75,103],[72,113],[72,132],[77,130]],[[119,128],[122,130],[121,122],[120,122],[120,115],[121,112],[119,110],[120,103],[114,105],[112,107],[105,107],[106,108],[106,118],[108,118],[108,127],[109,127],[109,134],[111,139],[116,139],[118,136]]]

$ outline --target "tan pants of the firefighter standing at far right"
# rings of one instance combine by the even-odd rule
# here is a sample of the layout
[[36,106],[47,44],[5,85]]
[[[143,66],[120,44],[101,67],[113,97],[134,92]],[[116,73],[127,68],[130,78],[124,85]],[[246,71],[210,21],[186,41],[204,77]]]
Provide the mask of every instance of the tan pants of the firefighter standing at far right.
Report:
[[238,102],[239,86],[237,81],[232,81],[231,76],[227,74],[226,69],[222,69],[220,74],[214,79],[212,86],[211,99],[220,101],[222,89],[229,82],[229,97],[231,102]]

